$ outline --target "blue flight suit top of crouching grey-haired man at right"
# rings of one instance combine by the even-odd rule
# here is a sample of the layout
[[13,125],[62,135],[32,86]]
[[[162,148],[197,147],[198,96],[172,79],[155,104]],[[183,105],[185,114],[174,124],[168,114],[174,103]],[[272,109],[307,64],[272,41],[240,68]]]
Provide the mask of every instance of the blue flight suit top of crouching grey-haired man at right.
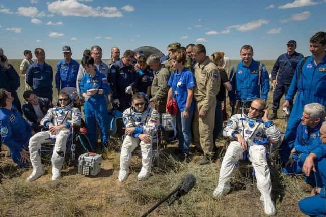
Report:
[[318,133],[321,127],[321,123],[322,122],[320,122],[314,128],[310,128],[300,123],[300,125],[297,127],[297,133],[294,142],[294,148],[296,152],[309,154],[312,150],[320,146],[320,137],[318,136]]

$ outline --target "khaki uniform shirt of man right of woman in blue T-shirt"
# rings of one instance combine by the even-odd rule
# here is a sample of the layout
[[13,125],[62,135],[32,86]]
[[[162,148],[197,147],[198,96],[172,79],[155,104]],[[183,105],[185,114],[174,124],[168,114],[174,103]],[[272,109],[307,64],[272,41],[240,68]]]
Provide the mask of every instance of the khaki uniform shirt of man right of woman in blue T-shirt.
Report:
[[207,111],[209,105],[216,99],[220,91],[221,77],[218,67],[208,57],[202,64],[196,63],[194,67],[196,86],[194,98],[196,102],[202,102],[202,110]]

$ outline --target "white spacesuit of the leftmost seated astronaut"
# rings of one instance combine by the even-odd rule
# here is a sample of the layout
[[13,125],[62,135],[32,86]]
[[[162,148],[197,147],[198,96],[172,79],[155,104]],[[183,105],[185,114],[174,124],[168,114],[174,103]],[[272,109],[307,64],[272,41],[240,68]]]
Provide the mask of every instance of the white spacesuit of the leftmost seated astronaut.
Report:
[[[71,98],[71,97],[70,97]],[[82,123],[82,113],[78,108],[72,107],[73,100],[65,107],[54,107],[47,111],[47,114],[41,120],[41,125],[48,127],[50,123],[54,126],[61,124],[65,128],[58,131],[55,135],[50,131],[41,131],[31,137],[29,142],[30,159],[33,166],[32,174],[27,178],[33,181],[44,174],[44,167],[41,163],[40,149],[41,144],[52,143],[56,140],[52,154],[52,180],[61,176],[61,167],[65,158],[66,141],[70,134],[72,126],[79,126]]]

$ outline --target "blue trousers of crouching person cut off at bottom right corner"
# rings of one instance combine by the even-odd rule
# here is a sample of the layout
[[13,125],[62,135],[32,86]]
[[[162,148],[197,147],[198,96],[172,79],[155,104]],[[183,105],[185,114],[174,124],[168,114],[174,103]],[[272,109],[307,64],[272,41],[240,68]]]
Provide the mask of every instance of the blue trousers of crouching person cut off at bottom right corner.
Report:
[[[318,187],[326,186],[326,158],[315,161],[316,179]],[[314,173],[311,171],[311,173]],[[299,201],[300,210],[309,216],[325,216],[326,215],[326,198],[322,195],[307,197]]]

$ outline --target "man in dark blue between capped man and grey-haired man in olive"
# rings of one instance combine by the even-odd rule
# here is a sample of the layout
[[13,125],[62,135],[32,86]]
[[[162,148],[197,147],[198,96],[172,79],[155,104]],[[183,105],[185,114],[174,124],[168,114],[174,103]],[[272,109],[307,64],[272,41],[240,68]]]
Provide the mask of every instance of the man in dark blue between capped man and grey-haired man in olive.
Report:
[[136,73],[139,74],[139,80],[136,89],[138,92],[144,92],[151,98],[151,87],[154,79],[153,71],[146,64],[146,57],[140,56],[137,61],[138,69]]

